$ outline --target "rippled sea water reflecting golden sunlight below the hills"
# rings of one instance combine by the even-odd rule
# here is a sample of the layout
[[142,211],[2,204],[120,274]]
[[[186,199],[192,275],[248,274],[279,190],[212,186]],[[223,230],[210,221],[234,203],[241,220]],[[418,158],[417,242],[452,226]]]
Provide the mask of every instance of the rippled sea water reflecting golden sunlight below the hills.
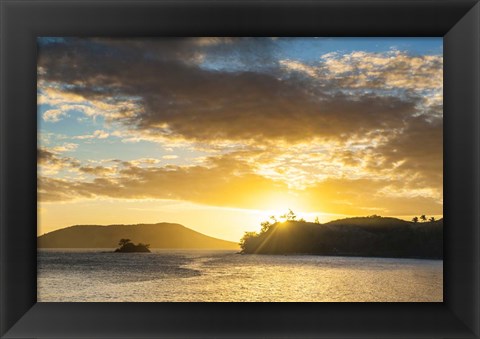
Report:
[[39,250],[38,301],[441,302],[443,261]]

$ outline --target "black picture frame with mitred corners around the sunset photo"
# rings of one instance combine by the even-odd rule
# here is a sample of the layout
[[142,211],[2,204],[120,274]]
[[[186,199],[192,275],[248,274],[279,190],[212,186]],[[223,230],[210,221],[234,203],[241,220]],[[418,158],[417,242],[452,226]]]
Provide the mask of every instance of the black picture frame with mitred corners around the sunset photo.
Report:
[[[479,337],[478,1],[0,0],[0,6],[2,338]],[[444,302],[37,303],[37,36],[444,37]]]

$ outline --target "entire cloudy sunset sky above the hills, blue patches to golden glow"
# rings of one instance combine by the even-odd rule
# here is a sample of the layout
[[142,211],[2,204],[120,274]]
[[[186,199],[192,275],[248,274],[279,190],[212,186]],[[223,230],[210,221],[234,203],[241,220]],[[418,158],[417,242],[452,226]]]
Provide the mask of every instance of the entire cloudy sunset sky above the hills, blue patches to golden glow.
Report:
[[39,38],[38,234],[443,215],[442,38]]

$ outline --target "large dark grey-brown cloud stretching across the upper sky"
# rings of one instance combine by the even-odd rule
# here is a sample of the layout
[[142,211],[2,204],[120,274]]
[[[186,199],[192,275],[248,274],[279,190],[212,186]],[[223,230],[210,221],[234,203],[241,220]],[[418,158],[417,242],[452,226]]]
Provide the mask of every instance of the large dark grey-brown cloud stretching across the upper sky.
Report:
[[[68,85],[64,91],[87,101],[120,107],[131,98],[131,108],[110,117],[124,126],[151,136],[200,142],[295,143],[394,129],[416,113],[420,100],[332,94],[338,84],[328,77],[311,92],[311,85],[282,73],[282,67],[269,72],[203,69],[185,62],[183,56],[194,54],[196,45],[182,41],[122,45],[115,40],[74,40],[40,51],[39,63],[44,81],[63,82]],[[238,44],[248,51],[262,50],[251,40]],[[235,46],[228,44],[229,49]]]

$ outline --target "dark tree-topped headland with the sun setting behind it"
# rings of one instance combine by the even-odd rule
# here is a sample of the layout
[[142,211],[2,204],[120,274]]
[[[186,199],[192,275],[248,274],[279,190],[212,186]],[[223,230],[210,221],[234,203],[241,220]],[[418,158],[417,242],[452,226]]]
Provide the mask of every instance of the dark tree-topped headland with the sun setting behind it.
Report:
[[375,216],[325,224],[276,222],[259,234],[245,234],[241,247],[243,253],[440,259],[443,257],[443,219],[413,223]]

